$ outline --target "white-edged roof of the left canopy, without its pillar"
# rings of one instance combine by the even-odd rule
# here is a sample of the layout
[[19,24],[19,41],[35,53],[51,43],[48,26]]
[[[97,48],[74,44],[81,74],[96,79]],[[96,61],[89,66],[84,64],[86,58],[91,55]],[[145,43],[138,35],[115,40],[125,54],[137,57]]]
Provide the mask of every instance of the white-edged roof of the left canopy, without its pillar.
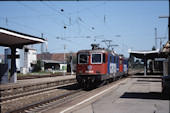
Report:
[[43,38],[0,27],[0,46],[22,48],[24,45],[44,42]]

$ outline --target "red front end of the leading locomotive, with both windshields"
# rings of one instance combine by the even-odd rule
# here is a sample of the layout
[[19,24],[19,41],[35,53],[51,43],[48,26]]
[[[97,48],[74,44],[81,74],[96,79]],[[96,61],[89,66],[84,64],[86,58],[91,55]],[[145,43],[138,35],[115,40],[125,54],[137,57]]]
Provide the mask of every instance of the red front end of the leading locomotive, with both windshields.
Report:
[[79,51],[77,53],[76,79],[81,87],[97,85],[107,73],[106,53],[103,51]]

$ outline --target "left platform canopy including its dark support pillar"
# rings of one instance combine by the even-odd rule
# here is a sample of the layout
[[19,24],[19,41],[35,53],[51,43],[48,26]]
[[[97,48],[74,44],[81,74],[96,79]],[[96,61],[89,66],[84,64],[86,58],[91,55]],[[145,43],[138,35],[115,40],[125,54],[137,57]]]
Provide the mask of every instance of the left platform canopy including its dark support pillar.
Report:
[[17,83],[16,49],[22,49],[24,45],[44,42],[45,40],[43,38],[0,27],[0,46],[10,47],[11,49],[11,55],[9,56],[11,59],[10,82]]

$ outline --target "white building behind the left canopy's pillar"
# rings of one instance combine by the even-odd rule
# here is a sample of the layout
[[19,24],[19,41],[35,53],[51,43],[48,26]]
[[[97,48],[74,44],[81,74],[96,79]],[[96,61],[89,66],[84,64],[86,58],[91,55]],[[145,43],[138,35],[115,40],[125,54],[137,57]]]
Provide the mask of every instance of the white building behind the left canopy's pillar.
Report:
[[[11,67],[11,59],[8,59],[11,55],[11,49],[5,48],[5,64],[8,64],[8,69]],[[16,55],[19,55],[19,58],[16,59],[16,68],[17,72],[28,73],[33,69],[33,65],[37,61],[37,51],[28,46],[23,47],[23,49],[16,49]]]

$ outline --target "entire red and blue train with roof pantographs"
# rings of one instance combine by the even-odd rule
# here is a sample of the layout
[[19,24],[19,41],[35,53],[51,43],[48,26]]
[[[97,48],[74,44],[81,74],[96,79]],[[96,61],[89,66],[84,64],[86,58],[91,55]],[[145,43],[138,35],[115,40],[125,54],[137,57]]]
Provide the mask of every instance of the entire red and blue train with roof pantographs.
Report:
[[77,52],[76,79],[80,87],[100,86],[128,76],[128,58],[92,44]]

